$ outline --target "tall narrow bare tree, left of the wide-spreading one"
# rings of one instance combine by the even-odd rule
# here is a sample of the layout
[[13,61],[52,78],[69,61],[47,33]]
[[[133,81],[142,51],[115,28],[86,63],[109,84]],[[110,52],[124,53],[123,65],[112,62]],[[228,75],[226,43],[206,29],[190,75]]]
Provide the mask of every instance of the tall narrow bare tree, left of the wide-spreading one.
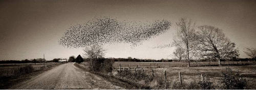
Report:
[[195,47],[195,43],[193,42],[196,41],[195,23],[192,23],[191,20],[188,21],[186,18],[182,17],[176,25],[177,36],[174,38],[173,45],[185,49],[187,67],[189,67],[190,58],[193,56],[193,53],[191,52],[193,52]]

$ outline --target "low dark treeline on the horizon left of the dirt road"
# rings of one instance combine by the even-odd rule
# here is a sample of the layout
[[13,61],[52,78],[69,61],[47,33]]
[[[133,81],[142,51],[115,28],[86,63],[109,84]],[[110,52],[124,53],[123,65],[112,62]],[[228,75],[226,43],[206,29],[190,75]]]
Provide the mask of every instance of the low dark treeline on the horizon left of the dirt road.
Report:
[[[58,63],[61,58],[54,58],[51,61],[45,61],[46,63]],[[0,64],[25,64],[25,63],[44,63],[44,58],[37,58],[37,59],[24,59],[22,61],[17,60],[4,60],[0,61]]]

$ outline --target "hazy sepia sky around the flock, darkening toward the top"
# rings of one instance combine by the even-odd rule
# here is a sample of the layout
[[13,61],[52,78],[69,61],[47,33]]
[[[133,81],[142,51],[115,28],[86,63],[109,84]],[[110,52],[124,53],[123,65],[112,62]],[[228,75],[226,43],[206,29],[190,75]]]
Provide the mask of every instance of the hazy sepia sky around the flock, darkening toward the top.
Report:
[[197,25],[223,29],[248,57],[245,48],[256,48],[256,1],[249,0],[2,0],[0,1],[0,60],[68,58],[83,55],[82,48],[58,44],[66,29],[94,17],[111,16],[118,20],[153,21],[166,19],[172,27],[158,37],[131,48],[126,43],[103,46],[105,57],[174,58],[168,44],[176,34],[175,22],[187,17]]

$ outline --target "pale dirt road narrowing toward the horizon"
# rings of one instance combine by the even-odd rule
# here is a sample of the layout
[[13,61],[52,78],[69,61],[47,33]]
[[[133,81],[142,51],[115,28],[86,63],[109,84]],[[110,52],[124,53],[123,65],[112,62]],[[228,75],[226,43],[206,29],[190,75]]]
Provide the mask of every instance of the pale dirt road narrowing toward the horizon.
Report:
[[63,64],[9,89],[123,89],[74,66]]

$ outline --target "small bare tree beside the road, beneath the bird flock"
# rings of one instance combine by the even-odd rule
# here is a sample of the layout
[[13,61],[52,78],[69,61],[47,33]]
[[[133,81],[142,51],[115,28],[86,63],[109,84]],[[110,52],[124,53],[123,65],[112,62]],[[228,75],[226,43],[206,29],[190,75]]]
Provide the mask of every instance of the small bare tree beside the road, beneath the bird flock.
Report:
[[105,50],[99,45],[87,46],[83,49],[84,55],[90,59],[91,67],[94,70],[95,60],[105,55]]

